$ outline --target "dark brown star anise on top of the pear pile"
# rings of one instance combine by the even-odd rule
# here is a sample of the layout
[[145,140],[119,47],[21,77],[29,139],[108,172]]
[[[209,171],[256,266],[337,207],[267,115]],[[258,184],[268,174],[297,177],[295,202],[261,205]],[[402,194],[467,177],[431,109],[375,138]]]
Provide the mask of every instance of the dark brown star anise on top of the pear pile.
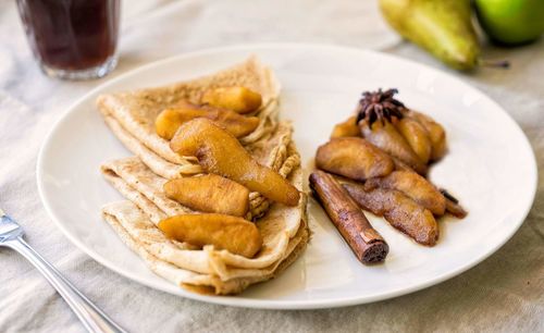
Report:
[[359,100],[357,107],[356,123],[358,124],[364,119],[369,123],[369,126],[372,126],[378,120],[383,124],[384,121],[391,122],[393,116],[401,119],[406,107],[403,102],[393,98],[397,92],[397,89],[382,91],[381,88],[378,91],[362,92],[362,98]]

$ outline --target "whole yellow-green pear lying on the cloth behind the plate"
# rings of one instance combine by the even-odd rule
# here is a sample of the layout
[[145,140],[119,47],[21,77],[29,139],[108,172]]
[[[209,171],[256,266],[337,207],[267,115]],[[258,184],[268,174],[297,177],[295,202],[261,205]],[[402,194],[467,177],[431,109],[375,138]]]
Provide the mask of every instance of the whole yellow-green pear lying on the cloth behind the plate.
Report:
[[380,0],[387,23],[403,37],[454,69],[478,65],[480,46],[470,0]]

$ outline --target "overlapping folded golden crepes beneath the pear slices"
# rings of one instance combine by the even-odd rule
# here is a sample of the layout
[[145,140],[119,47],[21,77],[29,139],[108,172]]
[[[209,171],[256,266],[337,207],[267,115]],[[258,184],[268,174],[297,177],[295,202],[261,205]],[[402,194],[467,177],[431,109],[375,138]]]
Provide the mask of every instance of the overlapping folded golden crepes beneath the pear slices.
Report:
[[292,126],[277,121],[279,85],[272,72],[256,58],[218,74],[166,87],[104,95],[98,107],[107,124],[136,157],[106,162],[104,177],[126,199],[107,205],[102,214],[122,240],[158,275],[182,286],[203,287],[233,294],[252,283],[275,276],[306,247],[306,196],[297,207],[272,203],[259,193],[250,194],[245,217],[256,221],[263,245],[254,258],[213,246],[197,248],[169,239],[157,227],[162,219],[198,213],[169,199],[162,189],[169,178],[191,176],[202,170],[195,157],[180,157],[169,141],[154,132],[154,119],[182,100],[199,103],[210,87],[245,86],[261,94],[263,107],[258,128],[240,143],[259,163],[276,171],[301,190],[300,158],[292,140]]

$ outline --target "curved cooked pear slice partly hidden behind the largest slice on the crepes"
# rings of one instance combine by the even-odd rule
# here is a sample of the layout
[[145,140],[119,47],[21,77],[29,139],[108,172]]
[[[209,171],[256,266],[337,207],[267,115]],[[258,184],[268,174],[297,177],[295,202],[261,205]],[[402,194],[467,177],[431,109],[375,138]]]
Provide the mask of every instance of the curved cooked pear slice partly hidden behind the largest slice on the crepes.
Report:
[[157,134],[166,140],[171,140],[183,123],[196,118],[209,119],[235,137],[248,135],[259,126],[257,116],[244,116],[226,109],[199,107],[189,102],[182,102],[175,108],[165,109],[159,113],[154,121]]

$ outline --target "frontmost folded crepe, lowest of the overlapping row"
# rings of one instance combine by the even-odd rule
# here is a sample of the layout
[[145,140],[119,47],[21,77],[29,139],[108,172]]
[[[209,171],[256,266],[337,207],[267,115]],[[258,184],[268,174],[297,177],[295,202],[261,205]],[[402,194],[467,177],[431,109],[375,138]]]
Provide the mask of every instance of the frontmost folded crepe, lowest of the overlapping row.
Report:
[[[211,246],[202,250],[188,250],[180,247],[176,242],[165,238],[149,221],[149,218],[131,201],[109,203],[103,208],[102,213],[104,220],[110,223],[121,239],[138,254],[156,274],[178,286],[199,293],[237,294],[250,284],[272,279],[298,258],[309,239],[307,220],[302,218],[300,227],[287,244],[280,260],[261,269],[243,269],[224,264],[226,260],[222,256],[225,258],[233,256],[225,250],[213,250]],[[261,233],[268,235],[268,238],[277,229],[274,224],[284,222],[280,208],[275,210],[274,206],[269,213],[270,218],[257,223]],[[235,259],[232,258],[232,261]],[[237,259],[249,260],[249,262],[259,260],[245,257]],[[193,270],[182,268],[187,267],[187,262],[191,261],[194,261],[190,264]],[[222,273],[222,276],[228,275],[230,279],[223,278],[222,280],[218,272]]]

